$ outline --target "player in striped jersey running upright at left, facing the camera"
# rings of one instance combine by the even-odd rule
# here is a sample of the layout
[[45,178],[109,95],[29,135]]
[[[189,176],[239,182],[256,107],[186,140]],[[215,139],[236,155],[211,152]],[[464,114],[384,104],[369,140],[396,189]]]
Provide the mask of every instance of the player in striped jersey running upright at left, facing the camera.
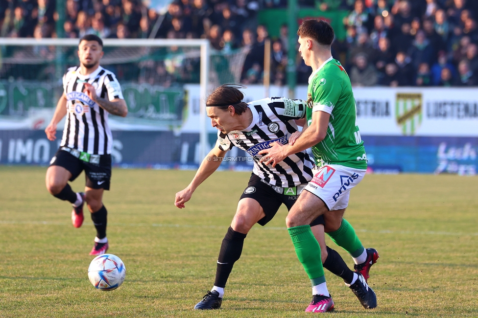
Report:
[[[60,200],[73,204],[74,227],[83,224],[86,202],[96,227],[95,246],[90,255],[108,250],[107,211],[103,191],[109,190],[113,138],[108,114],[126,116],[128,108],[115,75],[99,66],[103,42],[93,34],[85,35],[78,45],[79,67],[69,68],[63,76],[63,94],[53,118],[45,129],[49,140],[56,139],[58,122],[66,117],[60,148],[50,161],[46,184]],[[68,181],[85,171],[85,192],[73,192]]]

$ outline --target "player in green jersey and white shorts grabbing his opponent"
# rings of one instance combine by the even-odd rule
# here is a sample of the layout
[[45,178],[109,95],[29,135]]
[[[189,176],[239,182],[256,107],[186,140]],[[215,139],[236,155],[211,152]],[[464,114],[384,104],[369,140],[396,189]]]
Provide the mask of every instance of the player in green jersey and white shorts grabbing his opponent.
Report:
[[324,215],[325,231],[348,251],[356,263],[356,277],[347,284],[363,307],[375,308],[377,298],[367,285],[370,267],[379,255],[375,249],[364,249],[355,230],[343,220],[350,189],[365,175],[367,159],[357,125],[356,104],[349,76],[331,54],[334,30],[321,20],[307,20],[297,32],[299,52],[311,66],[309,78],[307,128],[296,140],[283,145],[275,142],[260,152],[264,163],[275,166],[288,154],[312,147],[317,169],[314,178],[289,211],[286,219],[289,235],[312,283],[312,302],[307,312],[327,312],[334,302],[327,289],[320,257],[312,251],[318,243],[307,226],[318,215]]

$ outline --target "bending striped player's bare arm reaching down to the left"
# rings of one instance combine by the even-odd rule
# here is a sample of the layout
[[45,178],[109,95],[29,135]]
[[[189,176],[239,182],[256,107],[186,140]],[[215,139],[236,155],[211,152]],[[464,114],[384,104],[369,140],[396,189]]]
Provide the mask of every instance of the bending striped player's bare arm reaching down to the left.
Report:
[[213,174],[219,167],[222,162],[222,159],[226,155],[226,151],[220,150],[218,146],[215,146],[209,154],[204,158],[197,169],[194,178],[192,178],[191,183],[184,189],[176,193],[176,198],[174,200],[174,205],[182,209],[184,204],[191,199],[192,193],[196,188],[208,179],[209,176]]

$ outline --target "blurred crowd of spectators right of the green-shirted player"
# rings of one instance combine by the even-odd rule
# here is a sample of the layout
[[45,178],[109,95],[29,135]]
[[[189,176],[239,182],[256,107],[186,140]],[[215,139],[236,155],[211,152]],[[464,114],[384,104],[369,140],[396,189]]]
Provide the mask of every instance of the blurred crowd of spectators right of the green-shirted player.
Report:
[[355,0],[335,55],[355,86],[477,86],[477,19],[476,0]]

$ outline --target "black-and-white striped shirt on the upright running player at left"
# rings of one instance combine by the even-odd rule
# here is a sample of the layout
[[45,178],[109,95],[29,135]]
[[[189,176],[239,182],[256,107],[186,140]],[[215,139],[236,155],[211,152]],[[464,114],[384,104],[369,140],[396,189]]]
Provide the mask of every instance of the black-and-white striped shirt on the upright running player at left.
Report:
[[79,67],[69,68],[63,76],[63,90],[67,96],[67,117],[61,146],[93,155],[111,154],[113,138],[108,126],[108,112],[83,92],[90,83],[96,94],[110,101],[123,99],[115,74],[98,67],[93,73],[81,75]]

